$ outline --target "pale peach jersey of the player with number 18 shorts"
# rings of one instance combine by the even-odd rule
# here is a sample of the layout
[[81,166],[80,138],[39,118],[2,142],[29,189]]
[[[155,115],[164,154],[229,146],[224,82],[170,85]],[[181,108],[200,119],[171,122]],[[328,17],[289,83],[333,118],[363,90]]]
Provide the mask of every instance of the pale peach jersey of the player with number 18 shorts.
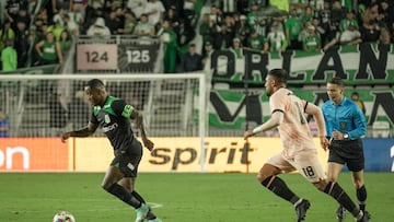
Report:
[[269,97],[271,114],[283,113],[283,121],[278,126],[278,130],[283,144],[282,154],[287,159],[293,157],[297,152],[316,149],[305,118],[306,105],[306,101],[285,87]]

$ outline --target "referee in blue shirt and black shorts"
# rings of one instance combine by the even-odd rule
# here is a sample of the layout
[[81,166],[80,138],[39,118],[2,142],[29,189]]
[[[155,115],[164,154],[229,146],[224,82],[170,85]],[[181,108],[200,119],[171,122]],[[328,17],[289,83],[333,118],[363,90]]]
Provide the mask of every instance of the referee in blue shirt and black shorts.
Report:
[[[328,147],[328,179],[337,182],[338,175],[346,164],[351,172],[360,210],[366,211],[367,189],[363,179],[364,154],[361,137],[367,132],[366,118],[361,109],[350,98],[344,96],[344,80],[333,78],[327,82],[329,101],[322,106],[326,124]],[[339,206],[336,214],[338,221],[345,219],[345,208]]]

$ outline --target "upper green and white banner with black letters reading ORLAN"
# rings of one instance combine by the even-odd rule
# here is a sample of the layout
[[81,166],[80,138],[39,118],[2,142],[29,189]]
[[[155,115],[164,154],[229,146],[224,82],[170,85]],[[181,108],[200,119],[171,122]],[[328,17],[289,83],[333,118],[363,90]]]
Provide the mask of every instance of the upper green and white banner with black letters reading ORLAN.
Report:
[[248,49],[237,58],[231,50],[216,50],[210,60],[212,82],[242,87],[262,86],[268,70],[289,71],[290,85],[325,84],[332,77],[340,77],[349,85],[394,84],[393,45],[360,44],[334,47],[325,52],[288,50],[282,54],[260,54]]

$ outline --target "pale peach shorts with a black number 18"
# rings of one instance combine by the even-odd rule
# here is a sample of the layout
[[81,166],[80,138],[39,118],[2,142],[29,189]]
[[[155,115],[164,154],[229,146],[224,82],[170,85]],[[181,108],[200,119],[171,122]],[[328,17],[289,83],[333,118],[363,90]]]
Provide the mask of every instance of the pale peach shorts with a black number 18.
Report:
[[316,150],[298,152],[293,159],[286,159],[281,153],[274,155],[267,164],[278,167],[282,173],[298,171],[310,183],[317,183],[326,178],[320,164]]

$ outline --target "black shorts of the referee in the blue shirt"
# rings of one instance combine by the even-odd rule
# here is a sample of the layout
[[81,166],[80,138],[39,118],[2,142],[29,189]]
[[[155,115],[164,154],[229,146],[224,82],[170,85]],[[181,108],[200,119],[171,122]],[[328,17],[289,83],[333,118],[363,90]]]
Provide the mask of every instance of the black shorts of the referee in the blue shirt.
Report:
[[329,145],[328,162],[347,165],[349,171],[364,168],[362,140],[333,140]]

